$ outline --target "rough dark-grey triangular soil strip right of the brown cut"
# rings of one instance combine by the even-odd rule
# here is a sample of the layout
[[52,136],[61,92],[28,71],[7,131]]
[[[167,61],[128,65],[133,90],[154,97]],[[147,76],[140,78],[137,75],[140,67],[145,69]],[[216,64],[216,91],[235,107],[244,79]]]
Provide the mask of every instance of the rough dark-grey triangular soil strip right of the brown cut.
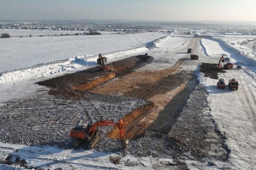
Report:
[[182,150],[191,152],[198,160],[204,156],[222,161],[228,158],[226,138],[211,118],[206,91],[201,84],[197,84],[191,92],[170,135]]

